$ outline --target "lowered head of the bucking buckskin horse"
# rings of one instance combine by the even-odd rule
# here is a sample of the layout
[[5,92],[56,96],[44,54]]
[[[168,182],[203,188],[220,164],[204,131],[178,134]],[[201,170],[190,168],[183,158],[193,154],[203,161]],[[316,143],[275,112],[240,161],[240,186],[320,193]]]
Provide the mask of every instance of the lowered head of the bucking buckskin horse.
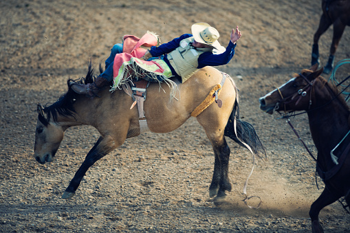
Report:
[[52,162],[65,133],[62,126],[45,117],[45,114],[50,113],[45,113],[40,103],[38,103],[37,111],[34,157],[40,164],[45,164],[45,162]]

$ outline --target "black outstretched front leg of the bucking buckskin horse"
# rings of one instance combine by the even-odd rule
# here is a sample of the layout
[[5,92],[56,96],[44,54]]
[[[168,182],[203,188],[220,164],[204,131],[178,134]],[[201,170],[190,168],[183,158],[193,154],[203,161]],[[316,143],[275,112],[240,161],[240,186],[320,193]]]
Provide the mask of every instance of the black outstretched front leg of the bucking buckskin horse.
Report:
[[87,170],[95,164],[98,159],[105,157],[108,153],[117,148],[118,145],[114,140],[107,137],[100,137],[93,148],[87,153],[83,164],[76,171],[72,181],[70,181],[69,186],[66,188],[65,192],[62,195],[63,199],[68,199],[74,196],[76,190],[78,189],[80,182],[83,180],[83,177]]

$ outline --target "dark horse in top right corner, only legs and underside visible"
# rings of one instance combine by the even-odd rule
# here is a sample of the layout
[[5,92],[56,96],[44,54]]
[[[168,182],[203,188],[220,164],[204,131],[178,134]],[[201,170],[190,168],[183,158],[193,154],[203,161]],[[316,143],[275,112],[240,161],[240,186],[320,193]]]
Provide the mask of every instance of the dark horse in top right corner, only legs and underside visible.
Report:
[[320,65],[318,52],[318,41],[320,36],[333,24],[333,39],[327,65],[323,72],[329,74],[333,69],[334,55],[345,27],[350,25],[350,0],[322,0],[322,15],[318,30],[314,34],[314,45],[312,45],[311,65]]

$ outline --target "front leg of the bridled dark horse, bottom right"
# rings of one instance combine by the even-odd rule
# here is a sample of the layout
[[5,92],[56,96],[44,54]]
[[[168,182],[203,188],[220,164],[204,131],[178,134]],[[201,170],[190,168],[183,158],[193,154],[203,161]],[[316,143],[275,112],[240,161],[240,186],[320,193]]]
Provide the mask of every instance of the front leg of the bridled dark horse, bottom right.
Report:
[[338,200],[341,195],[337,195],[337,192],[331,192],[329,187],[326,186],[325,190],[321,193],[320,197],[316,199],[314,203],[312,203],[309,216],[311,218],[311,227],[312,232],[323,232],[320,222],[318,220],[318,214],[320,211],[325,208],[325,206],[329,206],[334,201]]

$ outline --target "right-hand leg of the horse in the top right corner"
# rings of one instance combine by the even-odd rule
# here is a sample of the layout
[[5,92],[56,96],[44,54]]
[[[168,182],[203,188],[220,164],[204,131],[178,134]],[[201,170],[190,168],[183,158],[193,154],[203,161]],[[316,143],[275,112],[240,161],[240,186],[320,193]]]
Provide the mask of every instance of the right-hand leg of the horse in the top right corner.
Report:
[[334,55],[336,54],[337,47],[339,45],[340,38],[342,38],[342,33],[345,30],[345,25],[338,19],[333,23],[333,39],[331,41],[331,49],[328,58],[327,65],[323,69],[323,73],[329,74],[333,69],[334,65]]

